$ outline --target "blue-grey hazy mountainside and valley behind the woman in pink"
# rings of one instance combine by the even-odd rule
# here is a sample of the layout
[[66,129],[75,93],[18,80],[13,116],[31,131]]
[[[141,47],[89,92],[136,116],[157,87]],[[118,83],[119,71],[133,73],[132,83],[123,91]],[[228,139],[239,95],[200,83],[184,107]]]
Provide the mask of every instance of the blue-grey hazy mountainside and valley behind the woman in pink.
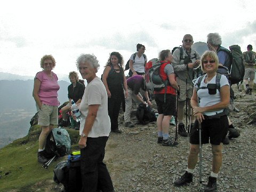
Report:
[[[70,83],[66,81],[58,81],[58,83],[60,85],[58,100],[62,105],[68,101]],[[0,81],[0,148],[27,135],[30,119],[36,113],[36,104],[32,97],[33,87],[34,79]]]

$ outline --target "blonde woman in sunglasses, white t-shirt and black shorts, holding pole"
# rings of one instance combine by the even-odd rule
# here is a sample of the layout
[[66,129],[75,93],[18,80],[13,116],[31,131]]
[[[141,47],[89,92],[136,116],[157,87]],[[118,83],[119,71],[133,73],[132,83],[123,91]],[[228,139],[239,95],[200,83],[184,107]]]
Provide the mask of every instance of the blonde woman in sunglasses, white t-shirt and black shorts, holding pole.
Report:
[[[217,177],[222,163],[222,143],[228,131],[228,117],[225,109],[229,105],[230,93],[227,77],[219,74],[217,76],[218,66],[219,59],[215,52],[206,51],[202,55],[201,68],[206,74],[203,75],[203,78],[198,77],[196,79],[195,89],[190,101],[197,120],[190,133],[188,166],[185,174],[174,182],[176,186],[182,186],[193,181],[193,173],[199,153],[198,125],[201,124],[201,141],[206,144],[209,143],[210,138],[213,154],[212,172],[205,191],[215,191],[217,189]],[[201,83],[198,83],[199,78],[202,79]]]

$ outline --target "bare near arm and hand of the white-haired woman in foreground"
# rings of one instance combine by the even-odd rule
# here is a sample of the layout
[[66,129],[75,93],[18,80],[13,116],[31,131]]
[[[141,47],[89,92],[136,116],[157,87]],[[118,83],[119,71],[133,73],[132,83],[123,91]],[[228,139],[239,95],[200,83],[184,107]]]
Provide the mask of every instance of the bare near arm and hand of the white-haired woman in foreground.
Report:
[[85,148],[86,147],[86,141],[87,141],[87,135],[89,132],[92,130],[92,126],[94,124],[94,121],[97,117],[98,109],[100,105],[90,105],[88,107],[88,115],[86,116],[85,119],[85,124],[84,124],[84,129],[82,133],[86,135],[86,137],[81,137],[78,145],[80,148]]

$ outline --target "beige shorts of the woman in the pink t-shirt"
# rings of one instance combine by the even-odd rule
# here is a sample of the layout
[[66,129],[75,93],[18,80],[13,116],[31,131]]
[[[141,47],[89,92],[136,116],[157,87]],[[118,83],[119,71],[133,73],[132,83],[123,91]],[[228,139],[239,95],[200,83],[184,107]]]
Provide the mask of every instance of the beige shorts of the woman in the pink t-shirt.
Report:
[[58,125],[58,106],[43,104],[38,113],[38,125]]

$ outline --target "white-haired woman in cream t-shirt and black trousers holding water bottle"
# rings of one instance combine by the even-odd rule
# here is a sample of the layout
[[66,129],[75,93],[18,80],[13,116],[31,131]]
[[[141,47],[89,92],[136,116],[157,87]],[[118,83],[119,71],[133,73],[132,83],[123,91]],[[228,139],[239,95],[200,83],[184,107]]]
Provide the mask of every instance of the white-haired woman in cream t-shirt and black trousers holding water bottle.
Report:
[[82,54],[78,57],[76,65],[88,83],[79,106],[84,116],[80,122],[81,138],[78,142],[81,148],[81,191],[113,192],[114,187],[107,166],[102,162],[111,125],[107,91],[96,75],[100,67],[99,61],[94,55]]

